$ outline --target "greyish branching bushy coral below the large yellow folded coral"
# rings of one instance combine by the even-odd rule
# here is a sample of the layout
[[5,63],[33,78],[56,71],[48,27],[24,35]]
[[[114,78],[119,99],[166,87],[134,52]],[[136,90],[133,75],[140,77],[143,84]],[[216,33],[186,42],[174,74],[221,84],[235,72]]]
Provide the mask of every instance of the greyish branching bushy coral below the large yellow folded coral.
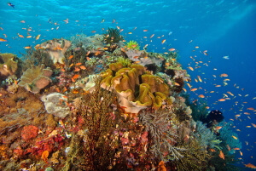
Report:
[[170,123],[170,111],[162,109],[158,111],[144,110],[139,117],[152,140],[150,151],[154,154],[154,157],[165,162],[183,157],[179,151],[185,149],[174,146],[177,133]]

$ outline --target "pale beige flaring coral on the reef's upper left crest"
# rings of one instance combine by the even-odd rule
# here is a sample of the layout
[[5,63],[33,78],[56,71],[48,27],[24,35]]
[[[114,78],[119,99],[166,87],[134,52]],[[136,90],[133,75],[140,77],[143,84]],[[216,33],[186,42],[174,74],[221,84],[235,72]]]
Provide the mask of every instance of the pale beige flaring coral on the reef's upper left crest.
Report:
[[65,59],[64,54],[70,46],[71,42],[62,38],[55,38],[42,44],[38,44],[35,48],[45,50],[45,52],[49,54],[51,60],[53,60],[54,64],[57,62],[63,64],[63,60]]

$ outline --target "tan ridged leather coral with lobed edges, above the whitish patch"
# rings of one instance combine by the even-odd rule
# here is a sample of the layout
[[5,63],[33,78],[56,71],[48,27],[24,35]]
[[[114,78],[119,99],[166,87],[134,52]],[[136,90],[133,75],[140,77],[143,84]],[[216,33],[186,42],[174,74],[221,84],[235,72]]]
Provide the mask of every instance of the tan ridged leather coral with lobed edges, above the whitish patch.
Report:
[[52,73],[49,67],[44,69],[44,65],[32,66],[23,73],[18,85],[33,94],[38,94],[40,89],[45,88],[51,82],[49,77]]

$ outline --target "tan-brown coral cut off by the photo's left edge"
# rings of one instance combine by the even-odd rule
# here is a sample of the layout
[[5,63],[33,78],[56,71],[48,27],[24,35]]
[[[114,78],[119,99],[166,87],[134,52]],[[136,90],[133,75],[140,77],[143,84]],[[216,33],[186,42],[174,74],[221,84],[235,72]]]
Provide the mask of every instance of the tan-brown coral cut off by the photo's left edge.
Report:
[[0,54],[0,76],[14,75],[18,69],[18,61],[15,54]]

